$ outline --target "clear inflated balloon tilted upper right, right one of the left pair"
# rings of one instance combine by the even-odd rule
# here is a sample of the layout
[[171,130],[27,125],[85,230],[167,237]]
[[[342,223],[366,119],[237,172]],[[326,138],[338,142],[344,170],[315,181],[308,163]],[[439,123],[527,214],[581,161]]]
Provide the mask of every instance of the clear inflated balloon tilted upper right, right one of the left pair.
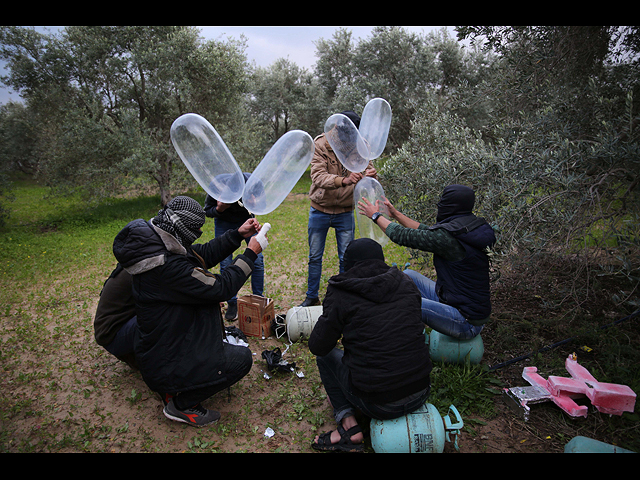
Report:
[[254,215],[278,208],[309,167],[314,149],[311,135],[302,130],[280,137],[247,180],[242,195],[245,208]]

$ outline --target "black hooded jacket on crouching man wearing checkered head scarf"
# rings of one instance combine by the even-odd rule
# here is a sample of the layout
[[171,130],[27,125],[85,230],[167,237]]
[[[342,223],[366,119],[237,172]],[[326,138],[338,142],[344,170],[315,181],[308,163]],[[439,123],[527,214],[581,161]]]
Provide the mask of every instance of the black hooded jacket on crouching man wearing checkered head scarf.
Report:
[[218,275],[207,271],[242,241],[237,230],[184,248],[145,220],[129,223],[113,253],[133,275],[139,334],[136,361],[156,392],[176,394],[225,380],[220,302],[234,296],[253,270],[255,253],[238,255]]

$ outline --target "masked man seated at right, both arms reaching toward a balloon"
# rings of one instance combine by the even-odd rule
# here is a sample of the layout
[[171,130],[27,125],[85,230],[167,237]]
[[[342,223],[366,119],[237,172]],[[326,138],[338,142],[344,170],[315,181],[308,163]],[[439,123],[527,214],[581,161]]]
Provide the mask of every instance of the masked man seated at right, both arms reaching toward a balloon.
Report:
[[389,239],[404,247],[433,252],[436,281],[405,270],[422,295],[422,321],[460,340],[478,335],[491,315],[488,252],[496,242],[491,226],[472,211],[475,192],[465,185],[448,185],[438,201],[432,226],[417,222],[384,201],[391,222],[363,199],[358,211],[371,218]]

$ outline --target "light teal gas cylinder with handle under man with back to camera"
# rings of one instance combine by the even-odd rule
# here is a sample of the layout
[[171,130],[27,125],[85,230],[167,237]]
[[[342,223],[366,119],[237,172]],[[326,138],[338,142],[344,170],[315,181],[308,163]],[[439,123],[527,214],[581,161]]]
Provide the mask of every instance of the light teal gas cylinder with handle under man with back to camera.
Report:
[[451,442],[458,450],[458,435],[464,426],[456,407],[452,424],[449,415],[440,416],[438,409],[425,403],[418,410],[392,420],[372,419],[369,425],[371,446],[376,453],[442,453],[444,444]]

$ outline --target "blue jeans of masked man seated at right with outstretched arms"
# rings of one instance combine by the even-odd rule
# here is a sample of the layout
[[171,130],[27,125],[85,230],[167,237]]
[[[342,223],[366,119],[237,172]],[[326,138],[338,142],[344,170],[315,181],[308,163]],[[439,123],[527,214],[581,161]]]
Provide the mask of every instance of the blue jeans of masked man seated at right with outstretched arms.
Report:
[[436,293],[436,282],[413,270],[405,270],[413,283],[416,284],[422,296],[422,322],[436,332],[467,340],[475,337],[483,326],[473,326],[462,316],[457,308],[440,303]]

